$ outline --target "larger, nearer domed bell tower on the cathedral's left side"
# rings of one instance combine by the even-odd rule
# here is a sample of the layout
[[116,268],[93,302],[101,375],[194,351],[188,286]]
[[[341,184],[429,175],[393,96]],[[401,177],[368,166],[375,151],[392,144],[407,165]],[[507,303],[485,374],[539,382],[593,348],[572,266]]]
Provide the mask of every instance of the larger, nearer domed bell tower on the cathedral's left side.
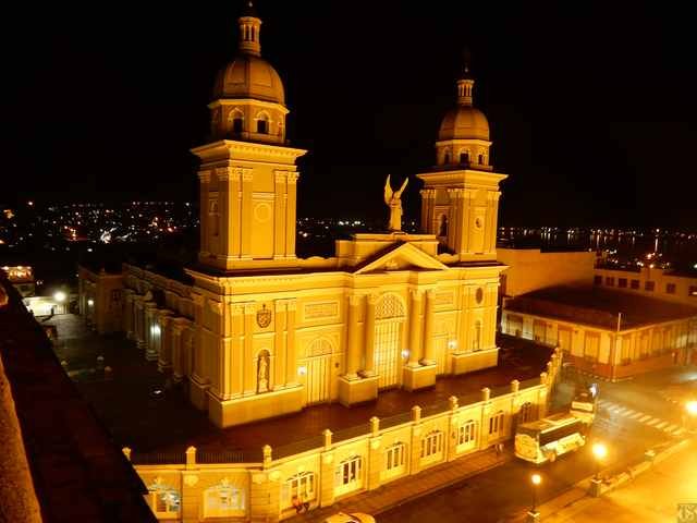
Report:
[[237,25],[237,56],[218,74],[208,106],[212,142],[192,149],[201,160],[198,259],[222,270],[292,266],[295,161],[306,151],[286,146],[283,83],[261,58],[252,1]]

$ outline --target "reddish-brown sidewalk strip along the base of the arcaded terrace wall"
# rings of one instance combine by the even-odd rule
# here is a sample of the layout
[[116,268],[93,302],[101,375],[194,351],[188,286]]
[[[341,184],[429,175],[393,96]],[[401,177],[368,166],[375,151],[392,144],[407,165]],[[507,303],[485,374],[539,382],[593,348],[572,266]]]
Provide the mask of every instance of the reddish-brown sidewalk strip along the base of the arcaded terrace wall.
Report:
[[512,459],[513,454],[510,448],[506,448],[501,455],[497,455],[493,448],[490,448],[465,455],[450,463],[433,466],[415,476],[396,479],[375,490],[352,496],[344,501],[337,501],[331,507],[316,509],[284,521],[289,523],[322,522],[325,518],[337,512],[378,514],[460,483]]

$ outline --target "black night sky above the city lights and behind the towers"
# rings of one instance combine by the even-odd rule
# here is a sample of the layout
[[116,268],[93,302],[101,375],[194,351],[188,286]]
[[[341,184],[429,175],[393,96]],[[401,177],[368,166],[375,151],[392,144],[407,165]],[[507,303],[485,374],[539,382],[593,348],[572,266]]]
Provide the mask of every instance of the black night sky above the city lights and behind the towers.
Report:
[[[380,216],[428,170],[462,49],[489,118],[504,224],[697,229],[687,7],[259,1],[301,161],[302,216]],[[195,159],[241,2],[91,2],[5,13],[0,200],[196,199]],[[408,209],[417,216],[418,185]]]

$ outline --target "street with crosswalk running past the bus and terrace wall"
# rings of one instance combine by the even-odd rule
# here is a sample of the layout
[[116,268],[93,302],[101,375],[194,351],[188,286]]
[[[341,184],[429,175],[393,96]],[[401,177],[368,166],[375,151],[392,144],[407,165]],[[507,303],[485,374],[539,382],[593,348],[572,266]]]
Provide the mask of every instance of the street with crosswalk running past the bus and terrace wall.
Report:
[[[423,498],[407,501],[377,515],[379,523],[439,523],[472,521],[501,523],[519,521],[533,503],[530,475],[541,475],[537,502],[552,499],[578,481],[596,472],[591,454],[594,441],[608,447],[603,474],[621,469],[631,460],[663,441],[684,433],[681,405],[667,401],[658,392],[675,387],[681,373],[669,372],[621,384],[599,384],[599,408],[588,443],[555,463],[535,466],[518,459],[470,477],[462,483]],[[685,386],[689,381],[685,380]],[[571,390],[571,382],[560,387],[560,396]]]

